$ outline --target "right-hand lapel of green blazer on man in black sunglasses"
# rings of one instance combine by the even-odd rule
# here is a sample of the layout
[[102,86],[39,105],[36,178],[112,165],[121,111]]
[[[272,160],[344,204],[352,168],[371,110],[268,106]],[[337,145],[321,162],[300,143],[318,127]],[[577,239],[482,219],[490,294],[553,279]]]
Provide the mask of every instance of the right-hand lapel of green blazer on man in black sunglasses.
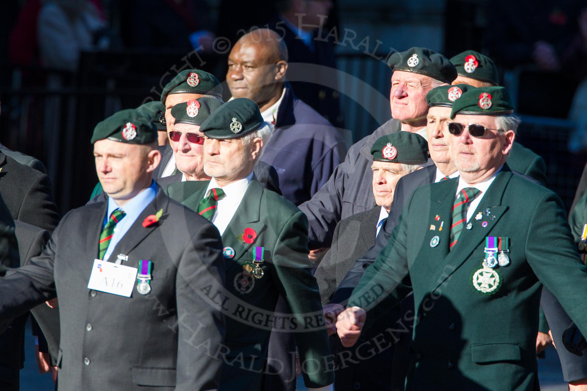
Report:
[[[501,219],[501,216],[508,209],[507,205],[501,205],[501,200],[505,187],[510,181],[511,176],[512,173],[510,169],[504,164],[504,167],[497,176],[495,176],[493,183],[491,183],[491,186],[487,189],[487,194],[483,196],[483,199],[481,199],[481,202],[469,220],[468,223],[471,223],[472,228],[463,229],[463,231],[461,231],[457,244],[454,245],[453,250],[451,250],[442,261],[441,267],[443,270],[450,271],[449,273],[435,274],[435,276],[440,275],[436,287],[434,288],[435,290],[468,260],[471,253],[473,253],[479,244],[485,240],[485,237],[490,234],[491,229],[497,224]],[[452,208],[452,204],[450,208]],[[478,212],[485,212],[487,209],[490,210],[490,215],[483,214],[483,219],[475,219],[475,215],[477,215]],[[446,208],[443,208],[443,210],[446,210]],[[485,227],[483,226],[484,222],[487,222],[487,226]],[[450,233],[450,229],[447,229],[447,233]],[[481,266],[481,261],[483,261],[483,259],[478,260],[478,266]],[[447,268],[447,266],[450,267]]]

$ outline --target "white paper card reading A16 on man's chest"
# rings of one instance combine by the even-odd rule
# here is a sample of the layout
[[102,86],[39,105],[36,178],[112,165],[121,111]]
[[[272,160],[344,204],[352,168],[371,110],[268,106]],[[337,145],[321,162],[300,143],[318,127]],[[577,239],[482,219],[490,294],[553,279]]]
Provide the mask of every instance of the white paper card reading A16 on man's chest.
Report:
[[95,259],[87,288],[130,297],[137,281],[138,271],[136,267]]

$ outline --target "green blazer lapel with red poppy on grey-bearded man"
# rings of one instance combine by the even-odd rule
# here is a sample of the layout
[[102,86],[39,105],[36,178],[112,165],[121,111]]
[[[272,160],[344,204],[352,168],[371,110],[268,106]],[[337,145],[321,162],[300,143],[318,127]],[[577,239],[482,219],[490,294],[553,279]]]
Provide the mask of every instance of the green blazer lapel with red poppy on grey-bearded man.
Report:
[[[245,253],[247,253],[251,246],[254,244],[257,245],[259,236],[265,230],[265,223],[259,220],[262,195],[263,188],[254,177],[249,183],[241,204],[238,206],[237,211],[234,213],[234,216],[232,216],[230,223],[228,223],[228,226],[222,234],[222,244],[234,249],[234,257],[232,257],[232,259],[227,259],[227,272],[231,267],[234,267],[235,264],[238,264],[238,261]],[[253,243],[245,243],[238,239],[239,237],[242,237],[245,228],[252,228],[257,233],[257,239],[255,239]],[[248,261],[252,261],[252,259],[249,259]]]

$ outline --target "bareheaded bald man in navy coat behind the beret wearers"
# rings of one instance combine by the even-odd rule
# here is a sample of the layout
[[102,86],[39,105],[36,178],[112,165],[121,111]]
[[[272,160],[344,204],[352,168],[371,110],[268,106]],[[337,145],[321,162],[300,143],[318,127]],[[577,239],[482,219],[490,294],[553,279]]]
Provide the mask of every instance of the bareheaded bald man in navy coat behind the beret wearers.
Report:
[[342,162],[339,132],[299,100],[286,81],[288,49],[273,30],[241,37],[228,56],[226,81],[234,98],[249,98],[275,125],[262,161],[275,167],[286,199],[299,205],[312,198]]

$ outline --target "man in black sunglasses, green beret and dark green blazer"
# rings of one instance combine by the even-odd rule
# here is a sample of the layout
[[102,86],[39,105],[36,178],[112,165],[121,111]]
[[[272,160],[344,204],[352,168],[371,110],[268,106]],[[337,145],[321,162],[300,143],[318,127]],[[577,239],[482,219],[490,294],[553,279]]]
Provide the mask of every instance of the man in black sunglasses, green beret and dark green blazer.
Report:
[[453,103],[448,139],[460,177],[416,189],[338,317],[351,346],[413,290],[410,389],[537,390],[540,283],[587,330],[587,267],[561,200],[506,163],[513,111],[502,87]]

